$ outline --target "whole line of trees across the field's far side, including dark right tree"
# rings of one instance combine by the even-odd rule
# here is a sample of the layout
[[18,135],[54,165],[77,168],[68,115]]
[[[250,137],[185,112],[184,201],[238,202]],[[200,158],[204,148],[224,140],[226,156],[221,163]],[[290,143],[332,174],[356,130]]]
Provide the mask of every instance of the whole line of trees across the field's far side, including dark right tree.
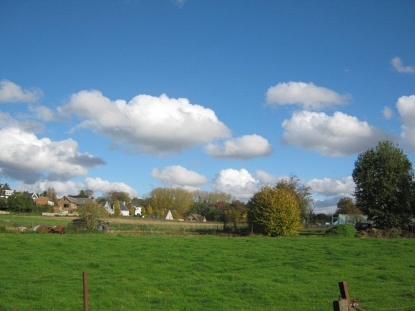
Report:
[[[413,225],[415,174],[402,149],[389,141],[379,142],[377,147],[359,154],[352,177],[356,203],[351,198],[342,198],[336,214],[365,214],[376,226],[385,229]],[[97,201],[131,201],[144,207],[147,215],[163,215],[165,209],[174,210],[176,218],[201,214],[207,220],[222,221],[225,227],[236,228],[247,220],[255,232],[278,236],[296,234],[304,220],[317,219],[310,191],[297,176],[290,176],[275,186],[263,187],[248,203],[221,192],[192,192],[183,188],[156,188],[147,198],[132,200],[125,192],[111,191]],[[13,198],[9,205],[17,211],[31,208],[29,202],[21,200]],[[320,214],[320,218],[324,215]]]

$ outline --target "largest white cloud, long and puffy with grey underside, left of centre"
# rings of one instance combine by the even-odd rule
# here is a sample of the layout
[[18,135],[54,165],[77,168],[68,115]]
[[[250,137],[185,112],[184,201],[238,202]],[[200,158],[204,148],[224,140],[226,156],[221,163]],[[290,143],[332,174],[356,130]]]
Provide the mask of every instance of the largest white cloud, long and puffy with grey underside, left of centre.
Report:
[[215,138],[230,137],[228,127],[211,109],[164,94],[138,95],[127,103],[111,101],[99,91],[81,91],[57,110],[84,119],[78,127],[106,135],[129,151],[154,156],[168,156]]

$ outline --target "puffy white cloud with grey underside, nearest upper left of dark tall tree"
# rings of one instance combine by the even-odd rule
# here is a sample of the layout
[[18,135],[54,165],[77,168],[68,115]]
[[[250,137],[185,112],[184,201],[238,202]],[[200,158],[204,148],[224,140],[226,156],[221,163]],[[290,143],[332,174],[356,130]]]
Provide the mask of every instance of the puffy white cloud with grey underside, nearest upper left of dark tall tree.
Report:
[[380,140],[393,140],[380,128],[341,112],[299,111],[282,123],[283,142],[324,156],[347,156],[373,147]]

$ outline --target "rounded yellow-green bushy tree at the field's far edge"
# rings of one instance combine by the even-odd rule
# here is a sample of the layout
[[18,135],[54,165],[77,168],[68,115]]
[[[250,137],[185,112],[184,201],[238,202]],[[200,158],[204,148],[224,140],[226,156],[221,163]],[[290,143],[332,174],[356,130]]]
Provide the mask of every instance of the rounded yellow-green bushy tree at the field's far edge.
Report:
[[286,188],[263,187],[247,204],[248,223],[254,232],[267,236],[289,236],[301,228],[297,196]]

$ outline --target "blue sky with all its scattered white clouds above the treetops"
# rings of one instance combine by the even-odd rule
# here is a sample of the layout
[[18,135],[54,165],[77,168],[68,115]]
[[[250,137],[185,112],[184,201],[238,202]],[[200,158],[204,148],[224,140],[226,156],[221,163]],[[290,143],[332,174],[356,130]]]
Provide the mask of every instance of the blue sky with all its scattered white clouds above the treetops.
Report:
[[0,2],[0,182],[248,200],[295,174],[316,212],[358,153],[415,161],[414,1]]

